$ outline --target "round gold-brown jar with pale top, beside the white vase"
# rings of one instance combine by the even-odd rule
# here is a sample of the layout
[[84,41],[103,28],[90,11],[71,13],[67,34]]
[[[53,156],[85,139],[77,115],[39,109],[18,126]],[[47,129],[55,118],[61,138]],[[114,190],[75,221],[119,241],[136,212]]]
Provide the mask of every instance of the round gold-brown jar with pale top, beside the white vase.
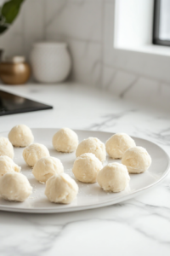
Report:
[[31,68],[23,56],[14,56],[0,63],[0,79],[4,84],[25,84],[30,75]]

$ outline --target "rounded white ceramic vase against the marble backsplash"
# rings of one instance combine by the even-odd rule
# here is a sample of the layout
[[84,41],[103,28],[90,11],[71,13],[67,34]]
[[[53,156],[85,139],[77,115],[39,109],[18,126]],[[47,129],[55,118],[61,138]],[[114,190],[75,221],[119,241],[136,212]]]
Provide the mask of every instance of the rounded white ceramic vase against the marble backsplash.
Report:
[[37,43],[31,50],[34,78],[41,83],[59,83],[71,71],[71,57],[65,43]]

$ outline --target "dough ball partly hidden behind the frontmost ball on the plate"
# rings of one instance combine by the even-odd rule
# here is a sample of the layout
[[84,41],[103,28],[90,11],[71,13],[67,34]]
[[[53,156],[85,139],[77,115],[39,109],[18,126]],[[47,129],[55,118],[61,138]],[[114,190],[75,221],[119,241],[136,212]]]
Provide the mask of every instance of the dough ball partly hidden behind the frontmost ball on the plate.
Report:
[[52,156],[42,157],[33,167],[32,173],[37,181],[46,183],[49,177],[64,172],[64,167],[58,158]]

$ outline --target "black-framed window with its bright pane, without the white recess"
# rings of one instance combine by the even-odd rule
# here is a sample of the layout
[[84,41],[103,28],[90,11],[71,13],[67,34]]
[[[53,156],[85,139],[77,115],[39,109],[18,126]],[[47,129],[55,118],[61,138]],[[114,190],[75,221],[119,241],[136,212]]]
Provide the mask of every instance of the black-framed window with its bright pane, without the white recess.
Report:
[[155,0],[153,44],[170,46],[170,1]]

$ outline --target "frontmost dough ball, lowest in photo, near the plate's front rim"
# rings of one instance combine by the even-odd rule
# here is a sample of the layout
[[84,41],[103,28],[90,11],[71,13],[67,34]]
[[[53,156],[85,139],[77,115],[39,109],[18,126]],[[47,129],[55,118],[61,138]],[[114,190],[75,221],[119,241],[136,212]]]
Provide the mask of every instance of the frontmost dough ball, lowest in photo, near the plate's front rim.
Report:
[[46,183],[45,195],[54,203],[69,204],[78,193],[77,183],[68,174],[55,174]]

